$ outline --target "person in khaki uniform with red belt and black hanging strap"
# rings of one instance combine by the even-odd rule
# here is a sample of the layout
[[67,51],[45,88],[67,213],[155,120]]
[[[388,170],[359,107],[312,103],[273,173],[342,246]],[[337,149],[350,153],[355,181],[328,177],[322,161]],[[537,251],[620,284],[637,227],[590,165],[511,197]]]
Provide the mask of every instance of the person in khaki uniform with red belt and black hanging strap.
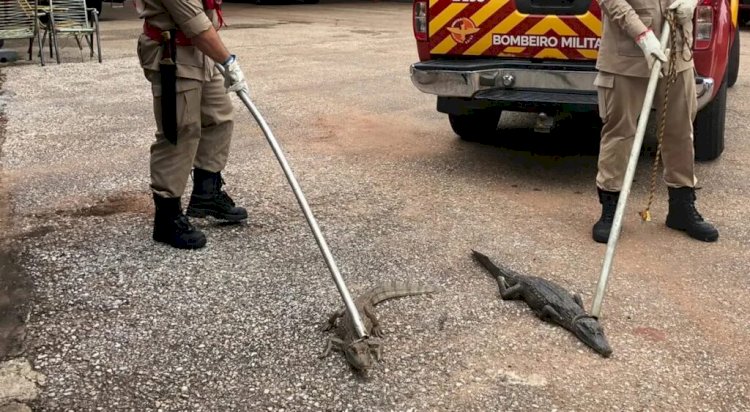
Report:
[[[223,24],[220,6],[221,0],[136,0],[144,19],[138,58],[152,86],[157,129],[150,162],[153,238],[182,249],[206,244],[182,212],[191,171],[188,216],[247,218],[222,190],[234,124],[228,93],[247,91],[247,83],[217,33]],[[214,62],[223,64],[226,77]]]

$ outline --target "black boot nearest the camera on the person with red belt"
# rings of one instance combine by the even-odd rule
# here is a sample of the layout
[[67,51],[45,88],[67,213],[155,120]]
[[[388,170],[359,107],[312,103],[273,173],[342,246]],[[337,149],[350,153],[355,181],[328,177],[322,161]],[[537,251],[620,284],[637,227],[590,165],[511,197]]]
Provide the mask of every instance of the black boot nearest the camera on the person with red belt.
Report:
[[161,197],[154,193],[154,240],[178,249],[199,249],[206,236],[182,214],[179,197]]

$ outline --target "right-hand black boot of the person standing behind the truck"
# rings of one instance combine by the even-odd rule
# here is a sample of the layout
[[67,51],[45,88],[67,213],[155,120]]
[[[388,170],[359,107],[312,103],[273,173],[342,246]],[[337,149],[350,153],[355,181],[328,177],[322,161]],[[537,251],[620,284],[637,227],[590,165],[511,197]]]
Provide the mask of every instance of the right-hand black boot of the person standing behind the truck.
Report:
[[703,220],[695,209],[695,189],[692,187],[668,188],[669,213],[667,226],[687,232],[693,239],[714,242],[719,238],[719,231]]

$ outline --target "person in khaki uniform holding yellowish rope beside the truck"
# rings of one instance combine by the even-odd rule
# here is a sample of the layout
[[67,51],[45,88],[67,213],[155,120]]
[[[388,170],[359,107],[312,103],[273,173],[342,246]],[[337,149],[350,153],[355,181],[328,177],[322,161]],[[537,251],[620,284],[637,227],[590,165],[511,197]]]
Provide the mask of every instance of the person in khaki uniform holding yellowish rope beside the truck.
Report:
[[[607,243],[615,209],[633,147],[638,115],[646,96],[650,69],[656,59],[667,63],[659,33],[667,12],[673,11],[684,37],[677,37],[677,81],[669,91],[666,128],[662,143],[663,178],[669,191],[667,226],[695,239],[711,242],[719,237],[713,225],[695,209],[693,120],[697,110],[695,77],[690,46],[697,0],[599,0],[603,32],[595,80],[603,128],[596,177],[602,214],[593,227],[593,238]],[[675,28],[675,31],[680,31]],[[687,42],[684,41],[687,39]],[[645,58],[644,58],[645,57]],[[666,72],[666,68],[664,70]],[[663,109],[665,79],[655,96],[657,116]],[[660,118],[660,117],[657,117]]]

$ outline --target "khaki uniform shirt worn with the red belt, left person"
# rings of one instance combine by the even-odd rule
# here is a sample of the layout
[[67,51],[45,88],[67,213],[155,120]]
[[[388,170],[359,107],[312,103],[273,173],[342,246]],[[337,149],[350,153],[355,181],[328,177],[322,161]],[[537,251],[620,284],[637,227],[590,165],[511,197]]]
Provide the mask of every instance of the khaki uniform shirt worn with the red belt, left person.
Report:
[[[139,17],[148,24],[162,30],[177,29],[192,38],[211,28],[219,28],[215,10],[204,10],[201,0],[141,0],[143,11]],[[138,58],[147,72],[159,71],[162,46],[145,34],[138,38]],[[214,62],[197,47],[177,46],[177,77],[209,81],[214,71]],[[177,82],[181,91],[181,82]]]

